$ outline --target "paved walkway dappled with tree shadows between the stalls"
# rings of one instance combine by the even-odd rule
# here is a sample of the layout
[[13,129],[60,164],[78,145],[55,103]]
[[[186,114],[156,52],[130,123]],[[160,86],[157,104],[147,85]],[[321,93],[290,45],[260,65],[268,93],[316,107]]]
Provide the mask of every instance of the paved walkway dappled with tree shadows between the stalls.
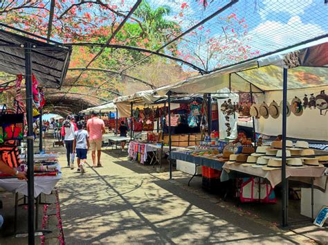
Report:
[[[66,244],[311,242],[186,190],[187,179],[183,188],[167,181],[167,173],[126,159],[102,154],[104,167],[83,175],[63,168],[58,190]],[[176,179],[185,177],[174,172]]]

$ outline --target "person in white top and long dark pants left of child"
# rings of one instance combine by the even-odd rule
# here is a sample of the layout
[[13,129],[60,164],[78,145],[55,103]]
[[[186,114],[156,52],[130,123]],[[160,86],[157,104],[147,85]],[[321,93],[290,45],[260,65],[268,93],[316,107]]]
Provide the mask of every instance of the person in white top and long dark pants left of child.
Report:
[[73,141],[74,132],[78,130],[76,124],[74,123],[75,118],[73,116],[67,116],[66,120],[62,126],[62,136],[64,136],[64,142],[66,146],[66,158],[67,166],[74,169],[74,154],[73,154]]

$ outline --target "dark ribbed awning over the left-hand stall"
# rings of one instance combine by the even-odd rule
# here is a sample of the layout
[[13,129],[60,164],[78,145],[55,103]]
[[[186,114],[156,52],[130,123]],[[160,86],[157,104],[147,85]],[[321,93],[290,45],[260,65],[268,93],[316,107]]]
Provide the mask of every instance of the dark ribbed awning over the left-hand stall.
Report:
[[71,47],[59,47],[0,30],[0,71],[14,75],[25,74],[25,51],[21,44],[32,48],[32,72],[42,87],[59,88],[66,76]]

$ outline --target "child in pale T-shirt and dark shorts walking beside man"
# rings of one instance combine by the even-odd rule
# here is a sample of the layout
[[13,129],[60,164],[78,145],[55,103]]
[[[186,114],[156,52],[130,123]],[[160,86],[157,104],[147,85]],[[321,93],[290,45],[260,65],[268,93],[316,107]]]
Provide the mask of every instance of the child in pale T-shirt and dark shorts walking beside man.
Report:
[[[78,122],[78,131],[74,133],[74,152],[78,158],[78,172],[83,174],[86,169],[86,153],[90,147],[89,134],[83,129],[83,123]],[[81,162],[82,161],[82,162]]]

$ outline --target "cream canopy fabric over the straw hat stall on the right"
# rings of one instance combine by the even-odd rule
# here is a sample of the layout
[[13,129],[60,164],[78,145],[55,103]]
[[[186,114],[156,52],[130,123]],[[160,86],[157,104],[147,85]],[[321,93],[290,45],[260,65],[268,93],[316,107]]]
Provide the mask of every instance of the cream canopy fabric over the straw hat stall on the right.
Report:
[[242,92],[272,91],[282,89],[283,68],[289,68],[288,89],[318,87],[328,84],[328,39],[320,44],[309,44],[306,48],[280,53],[229,66],[208,75],[170,84],[156,89],[164,96],[173,93],[213,93],[223,88]]

